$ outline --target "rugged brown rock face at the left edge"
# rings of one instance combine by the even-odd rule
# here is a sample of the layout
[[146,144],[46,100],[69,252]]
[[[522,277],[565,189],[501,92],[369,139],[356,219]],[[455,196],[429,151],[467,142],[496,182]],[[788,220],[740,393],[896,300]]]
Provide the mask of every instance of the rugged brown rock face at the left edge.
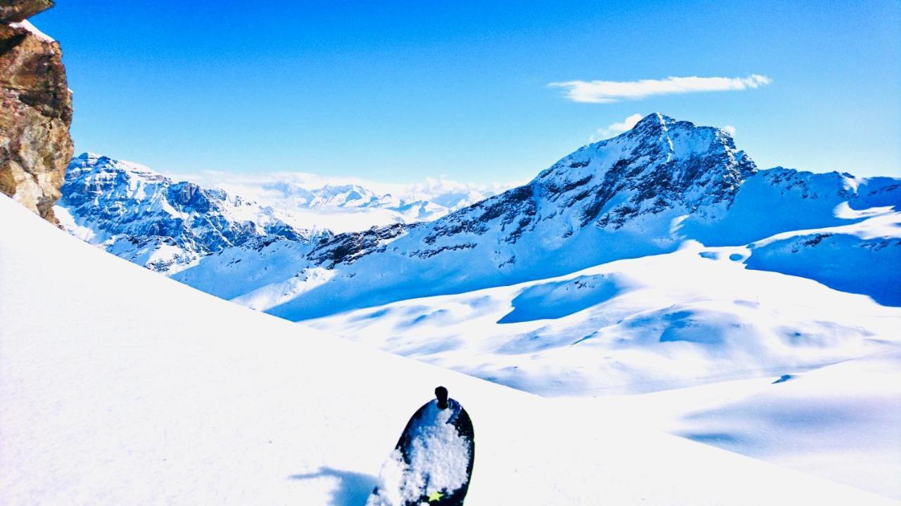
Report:
[[59,43],[10,25],[49,0],[0,0],[0,192],[51,222],[72,158],[72,95]]

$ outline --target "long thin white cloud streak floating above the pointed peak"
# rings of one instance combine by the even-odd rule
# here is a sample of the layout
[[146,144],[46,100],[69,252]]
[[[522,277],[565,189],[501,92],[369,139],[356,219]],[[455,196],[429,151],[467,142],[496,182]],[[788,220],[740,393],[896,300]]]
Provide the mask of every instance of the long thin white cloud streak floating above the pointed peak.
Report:
[[638,100],[652,95],[671,95],[710,91],[728,91],[769,85],[769,77],[667,77],[640,81],[565,81],[548,86],[564,88],[564,96],[573,102],[610,104]]

